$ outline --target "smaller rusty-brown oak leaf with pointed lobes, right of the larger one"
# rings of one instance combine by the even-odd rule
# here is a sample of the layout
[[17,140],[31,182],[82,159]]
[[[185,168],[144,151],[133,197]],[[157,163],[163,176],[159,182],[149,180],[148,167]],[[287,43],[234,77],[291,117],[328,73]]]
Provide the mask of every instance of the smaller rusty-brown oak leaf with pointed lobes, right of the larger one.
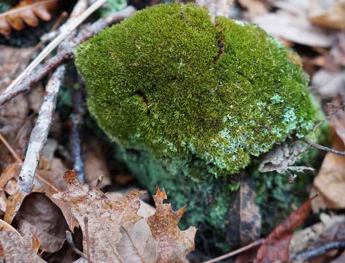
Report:
[[156,212],[147,218],[156,242],[156,262],[186,262],[187,254],[194,250],[194,236],[197,231],[195,227],[181,231],[177,226],[187,205],[174,212],[170,203],[163,203],[163,200],[167,199],[165,190],[161,192],[157,186],[156,192],[157,194],[152,196]]

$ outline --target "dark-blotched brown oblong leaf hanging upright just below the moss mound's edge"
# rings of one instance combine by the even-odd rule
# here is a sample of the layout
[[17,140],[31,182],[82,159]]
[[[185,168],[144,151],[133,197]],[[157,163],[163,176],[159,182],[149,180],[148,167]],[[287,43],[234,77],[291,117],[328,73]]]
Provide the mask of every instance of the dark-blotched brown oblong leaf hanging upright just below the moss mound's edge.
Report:
[[255,199],[255,186],[250,177],[242,173],[241,185],[229,213],[227,237],[230,245],[244,246],[260,237],[261,214]]

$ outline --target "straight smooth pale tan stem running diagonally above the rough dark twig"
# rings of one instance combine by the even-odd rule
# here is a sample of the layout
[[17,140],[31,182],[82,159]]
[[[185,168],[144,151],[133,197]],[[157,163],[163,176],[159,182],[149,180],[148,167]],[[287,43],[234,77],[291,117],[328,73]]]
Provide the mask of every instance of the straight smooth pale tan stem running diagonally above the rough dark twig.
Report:
[[77,26],[79,26],[89,15],[97,10],[106,0],[97,0],[93,5],[80,14],[69,27],[61,32],[53,41],[51,41],[41,53],[27,66],[22,73],[9,85],[4,93],[8,93],[11,89],[17,86],[25,79],[31,71],[55,48],[59,43],[64,40]]

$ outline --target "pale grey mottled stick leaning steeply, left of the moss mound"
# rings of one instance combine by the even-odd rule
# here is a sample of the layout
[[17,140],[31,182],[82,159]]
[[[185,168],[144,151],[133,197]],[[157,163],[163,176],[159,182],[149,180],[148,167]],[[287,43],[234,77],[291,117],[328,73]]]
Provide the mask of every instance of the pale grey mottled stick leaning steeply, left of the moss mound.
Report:
[[33,188],[35,172],[43,146],[47,141],[49,128],[53,122],[56,97],[63,83],[65,71],[66,65],[59,66],[48,81],[37,122],[30,135],[29,146],[19,174],[16,191],[29,194]]

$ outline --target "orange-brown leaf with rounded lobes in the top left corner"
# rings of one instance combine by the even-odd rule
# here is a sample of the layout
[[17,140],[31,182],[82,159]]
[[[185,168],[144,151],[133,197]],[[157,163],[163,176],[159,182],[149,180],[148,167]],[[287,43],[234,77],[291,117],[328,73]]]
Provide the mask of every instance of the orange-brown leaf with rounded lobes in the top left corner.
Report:
[[[0,33],[8,35],[14,30],[23,30],[25,24],[30,27],[38,25],[37,16],[51,20],[50,12],[57,7],[57,0],[21,0],[19,4],[7,10],[0,16]],[[39,4],[39,2],[42,2]],[[18,12],[15,12],[20,10]],[[6,15],[6,13],[9,13]],[[25,23],[25,24],[24,24]]]

